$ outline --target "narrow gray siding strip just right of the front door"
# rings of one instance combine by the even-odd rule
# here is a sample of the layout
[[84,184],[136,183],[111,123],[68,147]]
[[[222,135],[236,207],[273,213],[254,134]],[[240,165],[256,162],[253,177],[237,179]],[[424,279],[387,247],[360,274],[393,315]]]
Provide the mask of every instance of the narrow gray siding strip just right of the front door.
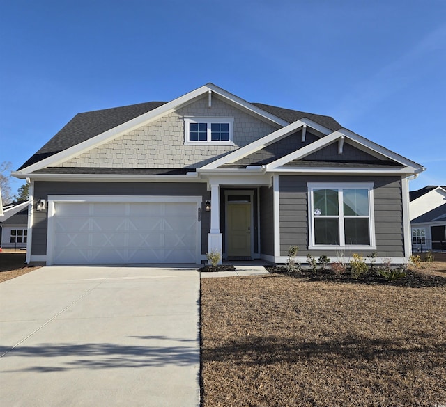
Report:
[[260,253],[274,255],[274,195],[272,188],[261,186],[260,199]]

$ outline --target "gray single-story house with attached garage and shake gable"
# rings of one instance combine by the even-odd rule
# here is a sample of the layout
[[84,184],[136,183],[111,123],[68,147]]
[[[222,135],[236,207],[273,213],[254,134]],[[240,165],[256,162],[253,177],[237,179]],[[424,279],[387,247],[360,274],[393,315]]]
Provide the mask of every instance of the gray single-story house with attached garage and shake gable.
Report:
[[76,115],[13,173],[31,182],[27,262],[284,263],[291,245],[403,262],[424,168],[325,115],[208,83]]

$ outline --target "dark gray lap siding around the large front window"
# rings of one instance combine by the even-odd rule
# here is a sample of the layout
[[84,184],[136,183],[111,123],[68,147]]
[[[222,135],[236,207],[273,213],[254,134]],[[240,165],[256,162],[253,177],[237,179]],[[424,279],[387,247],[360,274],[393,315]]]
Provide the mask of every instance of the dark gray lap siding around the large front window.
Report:
[[[299,255],[308,250],[307,182],[374,182],[375,237],[378,257],[403,257],[403,205],[399,177],[279,177],[280,254],[287,255],[289,246],[298,245]],[[363,255],[374,250],[362,250]],[[315,257],[337,255],[334,250],[311,250]],[[351,253],[345,253],[350,255]]]

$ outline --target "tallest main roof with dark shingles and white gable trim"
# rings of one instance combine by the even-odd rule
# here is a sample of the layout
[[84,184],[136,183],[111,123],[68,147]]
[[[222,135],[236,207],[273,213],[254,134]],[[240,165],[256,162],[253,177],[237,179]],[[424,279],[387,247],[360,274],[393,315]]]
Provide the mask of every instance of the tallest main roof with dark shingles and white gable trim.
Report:
[[303,113],[266,104],[251,104],[213,85],[213,83],[208,83],[171,102],[148,102],[79,113],[17,171],[31,173],[46,166],[55,166],[70,157],[75,157],[92,147],[110,141],[125,131],[131,131],[161,115],[178,109],[180,106],[192,103],[203,95],[208,95],[210,103],[212,103],[213,97],[224,99],[238,109],[279,127],[289,125],[290,121],[298,120],[303,116],[309,116],[315,122],[328,128],[340,127],[339,123],[328,116]]

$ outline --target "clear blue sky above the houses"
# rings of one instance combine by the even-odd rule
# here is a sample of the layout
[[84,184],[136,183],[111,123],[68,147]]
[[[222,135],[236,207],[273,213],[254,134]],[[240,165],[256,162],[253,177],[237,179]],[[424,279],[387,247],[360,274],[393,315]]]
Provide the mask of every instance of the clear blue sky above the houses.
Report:
[[422,164],[410,190],[446,185],[445,0],[15,0],[0,38],[0,162],[14,170],[76,113],[212,82]]

